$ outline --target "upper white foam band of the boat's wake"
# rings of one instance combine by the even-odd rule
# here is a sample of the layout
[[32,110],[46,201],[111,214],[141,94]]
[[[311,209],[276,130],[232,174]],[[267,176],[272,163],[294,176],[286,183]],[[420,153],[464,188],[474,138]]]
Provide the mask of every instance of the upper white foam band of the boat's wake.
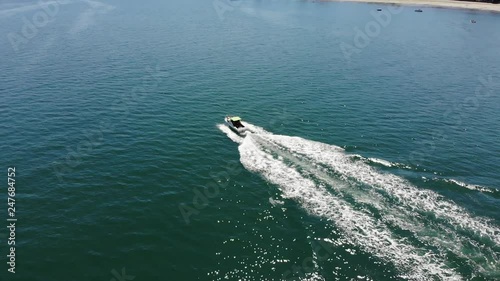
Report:
[[345,177],[356,179],[387,192],[412,211],[432,212],[445,219],[457,230],[467,229],[500,245],[500,229],[485,218],[472,217],[467,211],[430,190],[412,186],[403,178],[378,172],[369,165],[355,162],[337,146],[305,140],[299,137],[265,134],[261,137],[279,144],[294,153],[305,155],[327,165]]

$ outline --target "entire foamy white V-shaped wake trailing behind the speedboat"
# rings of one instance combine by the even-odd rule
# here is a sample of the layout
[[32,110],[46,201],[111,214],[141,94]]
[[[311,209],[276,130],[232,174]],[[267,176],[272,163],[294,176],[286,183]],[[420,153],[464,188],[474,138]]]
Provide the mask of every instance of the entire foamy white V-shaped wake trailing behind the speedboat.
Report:
[[402,278],[500,278],[500,228],[491,220],[341,147],[245,126],[251,131],[245,137],[218,127],[240,144],[247,170],[278,186],[283,198],[327,219],[348,243],[394,264]]

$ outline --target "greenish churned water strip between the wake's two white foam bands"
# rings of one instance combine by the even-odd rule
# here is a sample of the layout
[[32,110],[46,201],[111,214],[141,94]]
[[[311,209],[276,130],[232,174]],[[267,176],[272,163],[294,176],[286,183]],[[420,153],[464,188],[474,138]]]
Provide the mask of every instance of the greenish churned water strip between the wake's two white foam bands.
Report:
[[[355,188],[355,184],[346,184],[349,180],[343,181],[334,179],[327,173],[327,169],[318,166],[307,158],[300,157],[300,155],[293,155],[292,153],[283,150],[279,145],[275,145],[259,135],[254,135],[256,140],[261,146],[264,146],[264,151],[270,150],[274,145],[274,152],[278,154],[279,159],[289,159],[294,165],[299,165],[305,168],[309,175],[321,180],[341,196],[350,196],[357,203],[362,203],[373,207],[381,214],[381,220],[389,226],[397,227],[403,230],[410,231],[419,241],[436,247],[439,252],[446,255],[447,252],[452,252],[455,255],[466,259],[467,262],[479,272],[487,276],[495,276],[499,272],[499,253],[490,247],[480,245],[476,241],[468,238],[467,236],[458,235],[455,231],[450,229],[447,225],[439,223],[432,226],[426,225],[422,218],[418,216],[413,210],[407,209],[404,206],[389,202],[382,194],[373,189]],[[352,155],[349,155],[352,156]],[[360,156],[361,157],[361,156]],[[361,159],[357,157],[358,159]],[[370,210],[367,210],[370,213]],[[478,259],[478,257],[481,257]]]

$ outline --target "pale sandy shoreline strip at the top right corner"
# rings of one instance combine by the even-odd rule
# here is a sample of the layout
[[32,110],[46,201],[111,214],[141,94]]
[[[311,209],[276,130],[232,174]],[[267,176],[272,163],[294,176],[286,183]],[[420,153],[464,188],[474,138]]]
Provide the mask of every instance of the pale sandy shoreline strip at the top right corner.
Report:
[[500,13],[500,4],[481,3],[481,2],[466,2],[455,0],[317,0],[318,2],[357,2],[369,4],[396,4],[414,7],[435,7],[435,8],[452,8],[466,9],[484,12]]

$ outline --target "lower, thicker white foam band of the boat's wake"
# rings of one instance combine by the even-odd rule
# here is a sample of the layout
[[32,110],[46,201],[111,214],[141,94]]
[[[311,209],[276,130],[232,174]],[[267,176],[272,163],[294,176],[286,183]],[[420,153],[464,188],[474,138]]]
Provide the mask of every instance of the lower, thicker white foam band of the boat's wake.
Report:
[[248,170],[278,185],[285,198],[295,199],[308,212],[335,223],[352,244],[399,266],[408,273],[409,279],[461,279],[460,275],[447,268],[442,257],[409,245],[404,238],[395,237],[383,222],[352,209],[324,187],[317,186],[294,168],[263,151],[252,135],[243,140],[239,150],[240,160]]

